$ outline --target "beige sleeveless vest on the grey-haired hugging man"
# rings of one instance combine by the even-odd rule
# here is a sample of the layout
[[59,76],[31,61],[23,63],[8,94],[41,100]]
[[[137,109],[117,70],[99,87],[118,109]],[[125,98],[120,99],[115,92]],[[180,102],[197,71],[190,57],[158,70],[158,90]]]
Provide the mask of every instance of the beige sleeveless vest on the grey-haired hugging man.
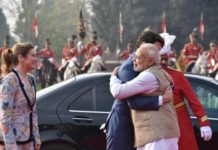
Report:
[[[155,75],[159,82],[159,88],[148,95],[163,95],[172,82],[170,75],[159,65],[154,65],[146,71]],[[161,138],[177,138],[180,136],[177,115],[172,102],[162,105],[158,111],[131,110],[136,147]]]

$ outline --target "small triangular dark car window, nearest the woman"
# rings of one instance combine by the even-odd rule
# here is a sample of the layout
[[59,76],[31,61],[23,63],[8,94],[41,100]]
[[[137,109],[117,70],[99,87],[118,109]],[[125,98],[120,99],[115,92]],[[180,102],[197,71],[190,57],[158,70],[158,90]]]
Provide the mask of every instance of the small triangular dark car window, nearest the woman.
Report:
[[79,97],[76,98],[70,104],[70,110],[93,110],[93,89],[89,89],[86,92],[83,92]]

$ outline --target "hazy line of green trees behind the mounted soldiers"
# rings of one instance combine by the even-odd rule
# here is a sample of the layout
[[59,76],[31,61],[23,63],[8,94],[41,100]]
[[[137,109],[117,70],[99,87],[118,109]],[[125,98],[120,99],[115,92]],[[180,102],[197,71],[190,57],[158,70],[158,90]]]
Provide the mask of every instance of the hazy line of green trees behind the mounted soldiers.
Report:
[[[84,42],[95,30],[103,49],[109,46],[114,51],[120,46],[124,50],[128,41],[135,41],[145,27],[161,32],[162,13],[165,11],[167,32],[177,36],[173,46],[179,53],[193,28],[199,26],[203,12],[205,36],[200,42],[206,49],[211,39],[218,38],[214,34],[218,30],[217,4],[217,0],[46,0],[36,5],[35,0],[22,0],[23,11],[16,34],[22,41],[34,43],[31,25],[37,10],[40,48],[49,37],[59,59],[66,39],[77,33],[79,10],[82,9],[86,30]],[[119,43],[118,35],[120,12],[124,26],[122,43]]]

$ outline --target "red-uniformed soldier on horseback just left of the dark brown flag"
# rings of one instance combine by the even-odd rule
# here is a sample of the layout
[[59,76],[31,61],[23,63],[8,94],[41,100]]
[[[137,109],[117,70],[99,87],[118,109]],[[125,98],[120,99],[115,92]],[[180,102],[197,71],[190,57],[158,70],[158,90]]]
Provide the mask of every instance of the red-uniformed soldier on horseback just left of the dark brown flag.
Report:
[[71,58],[78,57],[78,50],[74,46],[72,38],[68,38],[67,45],[63,48],[62,52],[62,65],[68,62]]

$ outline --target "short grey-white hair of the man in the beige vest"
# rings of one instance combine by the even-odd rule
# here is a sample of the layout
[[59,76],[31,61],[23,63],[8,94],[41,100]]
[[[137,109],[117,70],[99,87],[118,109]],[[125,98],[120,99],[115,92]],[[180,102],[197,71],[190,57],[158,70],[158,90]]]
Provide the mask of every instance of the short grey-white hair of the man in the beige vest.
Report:
[[146,49],[146,55],[154,60],[155,64],[160,64],[161,57],[160,52],[154,44],[144,43],[140,46],[140,48]]

